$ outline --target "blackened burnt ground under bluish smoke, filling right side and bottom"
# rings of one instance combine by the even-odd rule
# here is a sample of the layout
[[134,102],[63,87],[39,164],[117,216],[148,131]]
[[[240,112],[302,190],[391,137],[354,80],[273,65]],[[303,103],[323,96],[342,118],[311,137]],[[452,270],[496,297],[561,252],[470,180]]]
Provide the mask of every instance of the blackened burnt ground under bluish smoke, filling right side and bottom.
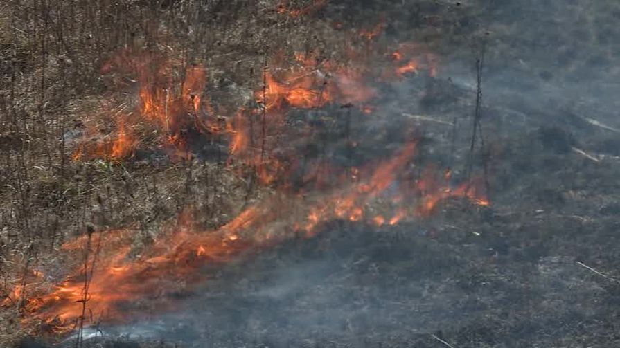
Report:
[[[620,345],[620,12],[613,1],[565,2],[495,1],[479,11],[490,35],[475,170],[488,158],[489,207],[445,201],[433,217],[385,228],[330,221],[314,239],[218,270],[184,294],[177,313],[87,331],[105,337],[85,347]],[[455,131],[416,119],[417,161],[452,167],[458,178],[476,55],[443,45],[437,79],[393,87],[424,98],[386,108],[456,119]]]

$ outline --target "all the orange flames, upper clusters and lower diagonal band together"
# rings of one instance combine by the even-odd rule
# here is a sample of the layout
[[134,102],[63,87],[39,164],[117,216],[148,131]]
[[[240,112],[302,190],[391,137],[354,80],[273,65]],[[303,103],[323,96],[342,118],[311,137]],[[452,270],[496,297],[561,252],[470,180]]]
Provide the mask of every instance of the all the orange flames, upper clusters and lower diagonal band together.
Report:
[[[298,17],[326,2],[315,1],[299,10],[290,10],[286,2],[278,12]],[[385,23],[381,21],[359,34],[371,41],[384,28]],[[380,57],[387,66],[382,72],[388,71],[385,75],[393,79],[428,67],[430,75],[434,76],[436,59],[430,55],[427,62],[409,59],[418,57],[411,51],[413,49],[403,46],[391,55],[389,51],[382,52]],[[290,131],[292,135],[286,134],[288,129],[284,128],[283,118],[289,109],[317,109],[339,103],[346,108],[357,107],[366,115],[375,113],[369,101],[379,92],[369,83],[376,77],[369,67],[358,61],[345,65],[317,57],[315,53],[296,53],[291,66],[265,70],[265,85],[254,91],[254,99],[260,107],[237,106],[236,114],[222,118],[216,118],[217,108],[211,105],[206,93],[208,75],[203,66],[183,66],[173,59],[160,62],[148,56],[131,62],[136,71],[137,106],[133,112],[112,118],[114,135],[98,139],[94,145],[80,144],[73,154],[76,161],[94,156],[114,160],[128,158],[141,143],[141,129],[157,134],[162,147],[183,152],[188,148],[184,130],[192,128],[202,136],[224,134],[229,141],[229,170],[239,170],[243,174],[242,170],[249,167],[253,170],[252,180],[256,178],[263,185],[273,185],[274,192],[215,230],[201,230],[191,217],[179,217],[174,226],[163,228],[153,244],[140,250],[138,256],[132,253],[135,250],[131,247],[130,229],[78,237],[64,244],[62,252],[74,258],[76,255],[83,257],[84,250],[89,248],[89,253],[96,253],[96,262],[92,254],[86,263],[76,262],[63,282],[53,289],[39,286],[33,289],[38,291],[36,295],[29,299],[21,298],[26,297],[24,293],[33,293],[30,288],[26,291],[26,280],[23,280],[1,305],[24,300],[27,321],[40,320],[57,332],[71,331],[82,319],[91,324],[122,322],[134,315],[132,309],[144,312],[139,300],[156,301],[164,310],[172,307],[173,294],[191,290],[209,279],[209,273],[204,271],[206,264],[223,265],[287,239],[314,237],[323,232],[321,223],[327,221],[340,219],[387,228],[432,214],[448,199],[466,199],[480,206],[489,204],[484,190],[475,181],[455,188],[450,183],[449,171],[441,176],[435,170],[427,170],[422,178],[412,179],[417,174],[413,165],[415,141],[402,145],[391,158],[371,161],[365,166],[349,165],[346,170],[339,170],[343,168],[332,167],[328,161],[309,165],[314,165],[312,174],[305,172],[301,176],[304,181],[315,179],[315,187],[320,190],[306,191],[304,187],[303,192],[292,192],[286,185],[276,186],[276,183],[290,184],[285,174],[291,171],[291,163],[301,161],[296,161],[299,154],[293,150],[292,154],[285,152],[284,155],[269,151],[275,148],[274,139],[285,134],[284,141],[293,143],[291,148],[296,145],[294,140],[299,134],[305,134],[308,139],[304,140],[312,140],[308,136],[312,130],[294,129],[294,133]],[[409,59],[407,64],[403,65],[403,59]],[[105,66],[105,71],[114,69],[114,64]],[[180,80],[175,80],[177,75],[182,75]],[[304,127],[311,128],[306,125],[298,128]],[[357,146],[353,141],[348,144]],[[332,178],[335,183],[330,183]],[[330,185],[321,185],[326,182]],[[42,278],[42,273],[34,275]],[[85,284],[89,284],[87,291]],[[91,313],[89,318],[82,318],[84,306]]]

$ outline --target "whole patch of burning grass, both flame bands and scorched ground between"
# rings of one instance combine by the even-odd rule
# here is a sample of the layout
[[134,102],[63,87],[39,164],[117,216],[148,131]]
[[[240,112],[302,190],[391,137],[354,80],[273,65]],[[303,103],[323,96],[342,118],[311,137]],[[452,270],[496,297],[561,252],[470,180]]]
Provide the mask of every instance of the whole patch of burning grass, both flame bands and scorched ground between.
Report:
[[[287,17],[286,23],[290,18],[304,21],[326,4],[314,1],[296,8],[280,3],[276,16]],[[218,98],[218,84],[224,80],[222,75],[229,73],[218,71],[222,66],[213,64],[218,56],[188,59],[187,48],[176,50],[187,37],[175,41],[160,28],[163,25],[149,32],[160,46],[152,42],[150,46],[125,45],[128,48],[101,59],[103,63],[94,75],[108,82],[102,98],[109,100],[106,105],[120,106],[78,116],[82,138],[73,147],[70,165],[85,168],[87,179],[76,174],[77,188],[59,190],[87,196],[82,207],[90,205],[91,200],[97,202],[96,211],[76,203],[82,209],[76,214],[80,216],[80,232],[87,216],[96,217],[101,226],[114,227],[89,230],[69,241],[62,235],[64,244],[59,253],[73,262],[62,264],[62,272],[53,275],[28,264],[27,273],[13,275],[12,291],[2,305],[19,308],[24,327],[69,333],[83,324],[140,318],[147,315],[148,304],[169,310],[175,305],[175,293],[208,282],[209,267],[251,257],[290,239],[315,237],[324,232],[321,226],[328,221],[396,225],[427,217],[448,199],[488,205],[477,181],[456,185],[434,170],[419,175],[414,161],[418,143],[412,140],[416,139],[412,125],[402,125],[398,134],[407,141],[390,139],[389,145],[394,148],[391,154],[357,153],[359,141],[366,141],[368,147],[386,145],[372,137],[364,140],[351,135],[351,124],[371,129],[393,117],[381,109],[386,98],[382,86],[416,79],[421,72],[433,78],[439,65],[424,45],[380,43],[387,21],[379,18],[376,23],[338,34],[319,26],[333,35],[326,39],[337,48],[330,54],[325,47],[303,50],[290,42],[281,42],[282,49],[263,53],[260,59],[247,53],[238,64],[244,64],[244,59],[267,64],[253,63],[251,78],[244,77],[249,80],[245,82],[247,89],[233,89],[233,93],[245,93],[244,102]],[[193,35],[200,37],[197,32]],[[209,44],[213,46],[218,40],[213,38]],[[338,46],[336,42],[346,44]],[[220,54],[218,59],[228,59],[222,58],[227,54]],[[302,117],[294,119],[295,113]],[[228,151],[222,154],[218,150],[214,155],[208,151],[211,147]],[[136,235],[147,234],[145,226],[150,221],[144,219],[136,228],[135,215],[111,219],[114,208],[94,193],[94,175],[89,171],[100,165],[97,170],[101,176],[121,183],[125,199],[139,200],[131,189],[138,184],[127,172],[114,176],[114,166],[119,172],[131,170],[135,163],[148,163],[155,156],[166,157],[170,161],[166,170],[176,176],[184,173],[186,201],[197,196],[192,189],[192,183],[197,185],[195,163],[219,163],[211,176],[233,174],[247,190],[245,201],[228,209],[229,213],[238,212],[240,206],[244,209],[233,218],[216,216],[224,208],[214,206],[224,201],[222,196],[232,184],[223,189],[207,185],[208,217],[197,217],[204,210],[186,208],[192,213],[181,213],[175,223],[158,226],[159,232],[148,234],[150,241],[136,251]],[[140,183],[145,187],[142,193],[152,191],[157,197],[152,210],[162,210],[161,215],[169,217],[172,210],[192,206],[182,201],[182,194],[177,195],[181,197],[178,201],[168,203],[172,195],[159,194],[154,177],[152,181]],[[205,181],[218,182],[209,173]],[[109,198],[110,187],[97,192],[105,192],[103,196]],[[162,217],[153,220],[163,225]],[[83,262],[76,262],[78,259]]]

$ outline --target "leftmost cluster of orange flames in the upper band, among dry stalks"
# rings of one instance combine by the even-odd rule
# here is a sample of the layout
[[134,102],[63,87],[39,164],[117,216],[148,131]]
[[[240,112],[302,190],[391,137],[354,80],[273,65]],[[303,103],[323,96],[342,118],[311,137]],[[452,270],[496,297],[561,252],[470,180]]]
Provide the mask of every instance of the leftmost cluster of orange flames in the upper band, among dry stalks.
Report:
[[[106,158],[121,160],[131,156],[139,144],[135,134],[130,132],[134,126],[150,127],[161,134],[161,145],[172,147],[171,154],[184,156],[186,152],[184,137],[185,129],[193,128],[202,134],[218,134],[222,129],[213,120],[215,112],[209,98],[204,95],[206,86],[206,69],[200,65],[182,69],[181,80],[175,81],[174,71],[181,68],[171,59],[156,59],[150,55],[139,54],[130,57],[122,51],[105,64],[102,73],[115,70],[131,70],[137,72],[139,91],[137,107],[123,118],[114,117],[118,135],[92,143],[82,143],[73,154],[73,159]],[[96,128],[96,127],[91,127]],[[91,132],[90,138],[96,138]]]

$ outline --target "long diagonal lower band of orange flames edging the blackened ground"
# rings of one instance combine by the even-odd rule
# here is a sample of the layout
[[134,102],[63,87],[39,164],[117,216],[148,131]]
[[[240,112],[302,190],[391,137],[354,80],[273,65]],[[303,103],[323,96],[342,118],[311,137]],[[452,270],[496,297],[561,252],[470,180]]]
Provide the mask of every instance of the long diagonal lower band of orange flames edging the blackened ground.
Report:
[[[359,178],[356,181],[346,178],[340,187],[327,194],[274,196],[240,212],[218,230],[193,232],[196,227],[191,214],[183,214],[176,226],[169,228],[137,258],[129,256],[132,235],[129,230],[78,237],[64,244],[62,250],[80,253],[90,246],[98,253],[96,268],[85,269],[84,264],[79,264],[53,291],[26,301],[24,308],[30,313],[26,320],[42,320],[57,332],[71,331],[81,318],[83,302],[87,298],[91,313],[85,318],[87,322],[123,321],[130,314],[130,308],[135,308],[130,304],[137,300],[157,300],[160,308],[171,307],[172,297],[166,294],[191,289],[191,286],[207,280],[209,275],[201,271],[205,264],[226,264],[251,250],[269,248],[298,234],[313,237],[321,232],[318,226],[326,221],[344,219],[357,222],[368,217],[369,223],[376,226],[395,225],[414,217],[409,213],[412,211],[409,205],[417,206],[416,213],[426,214],[437,203],[450,197],[461,196],[476,204],[488,204],[476,185],[463,184],[451,190],[448,183],[433,181],[430,174],[410,186],[418,194],[409,192],[405,184],[409,180],[407,172],[415,149],[415,143],[405,145],[393,158],[357,170]],[[405,195],[391,200],[396,204],[391,219],[387,221],[382,215],[370,217],[369,207],[390,197],[389,188],[394,185],[401,185]],[[420,198],[416,199],[416,196]],[[283,225],[280,221],[289,223]],[[85,275],[89,275],[87,294]],[[19,291],[21,287],[16,288],[13,299],[19,298]],[[10,300],[2,303],[3,306],[8,304]]]

